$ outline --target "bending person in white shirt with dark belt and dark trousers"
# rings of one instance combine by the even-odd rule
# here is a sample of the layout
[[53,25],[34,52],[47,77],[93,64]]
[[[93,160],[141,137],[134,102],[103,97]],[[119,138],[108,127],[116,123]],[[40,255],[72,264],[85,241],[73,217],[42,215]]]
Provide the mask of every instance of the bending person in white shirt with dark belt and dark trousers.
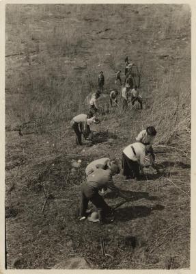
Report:
[[149,146],[141,142],[128,145],[122,153],[122,175],[129,178],[140,179],[139,171],[143,174],[145,154],[149,153]]

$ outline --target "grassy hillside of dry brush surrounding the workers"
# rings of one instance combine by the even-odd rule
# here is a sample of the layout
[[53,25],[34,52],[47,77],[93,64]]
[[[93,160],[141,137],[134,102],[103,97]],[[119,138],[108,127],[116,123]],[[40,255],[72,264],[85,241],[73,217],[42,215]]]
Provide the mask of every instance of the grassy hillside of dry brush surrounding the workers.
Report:
[[[191,12],[187,5],[6,5],[5,118],[8,268],[51,269],[85,257],[98,269],[189,267]],[[94,125],[96,145],[74,145],[70,120],[104,71],[105,90],[129,56],[144,110],[113,108]],[[120,86],[117,86],[120,91]],[[100,104],[107,105],[107,97]],[[119,98],[120,104],[121,99]],[[115,177],[132,201],[115,222],[79,223],[80,184],[91,160],[120,158],[154,125],[163,171]],[[23,136],[18,136],[18,128]],[[72,160],[82,160],[79,169]],[[46,197],[48,199],[43,210]],[[115,206],[122,199],[105,195]],[[110,256],[101,252],[100,238]]]

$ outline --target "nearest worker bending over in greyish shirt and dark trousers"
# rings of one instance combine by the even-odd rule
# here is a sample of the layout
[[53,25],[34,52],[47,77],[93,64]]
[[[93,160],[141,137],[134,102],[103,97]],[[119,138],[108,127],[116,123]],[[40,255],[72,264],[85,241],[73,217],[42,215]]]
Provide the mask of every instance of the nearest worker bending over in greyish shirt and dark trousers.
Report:
[[104,219],[108,214],[111,214],[112,209],[98,193],[102,188],[109,188],[117,192],[120,197],[126,199],[126,196],[122,194],[120,189],[113,184],[112,176],[118,173],[120,173],[119,166],[117,166],[117,164],[112,164],[110,169],[96,169],[96,171],[87,176],[86,181],[83,182],[81,187],[81,219],[85,219],[87,216],[86,211],[89,201],[96,206],[100,223],[104,222]]

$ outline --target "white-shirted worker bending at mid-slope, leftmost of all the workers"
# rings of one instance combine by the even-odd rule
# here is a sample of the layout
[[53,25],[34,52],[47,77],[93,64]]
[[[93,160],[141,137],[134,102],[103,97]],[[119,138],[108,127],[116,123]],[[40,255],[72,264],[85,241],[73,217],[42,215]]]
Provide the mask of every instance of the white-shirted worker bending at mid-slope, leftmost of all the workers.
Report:
[[91,111],[88,114],[79,114],[72,119],[71,126],[76,134],[76,145],[83,145],[82,134],[85,138],[89,136],[91,133],[89,125],[92,123],[99,123],[99,120],[95,118],[94,113]]

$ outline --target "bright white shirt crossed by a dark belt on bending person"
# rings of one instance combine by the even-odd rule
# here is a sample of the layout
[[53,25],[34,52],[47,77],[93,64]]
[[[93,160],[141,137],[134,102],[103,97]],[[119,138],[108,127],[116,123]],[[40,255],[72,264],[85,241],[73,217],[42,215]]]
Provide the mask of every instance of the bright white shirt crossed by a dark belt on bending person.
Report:
[[[135,153],[132,151],[132,147],[135,149]],[[123,153],[132,161],[137,161],[139,164],[143,165],[143,161],[145,158],[145,145],[141,144],[141,142],[135,142],[134,144],[128,145],[123,151]]]

